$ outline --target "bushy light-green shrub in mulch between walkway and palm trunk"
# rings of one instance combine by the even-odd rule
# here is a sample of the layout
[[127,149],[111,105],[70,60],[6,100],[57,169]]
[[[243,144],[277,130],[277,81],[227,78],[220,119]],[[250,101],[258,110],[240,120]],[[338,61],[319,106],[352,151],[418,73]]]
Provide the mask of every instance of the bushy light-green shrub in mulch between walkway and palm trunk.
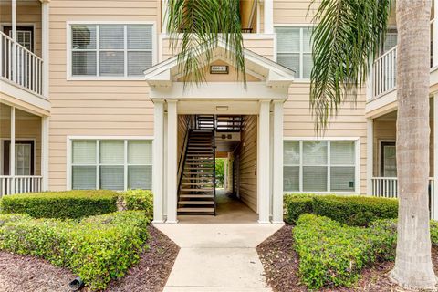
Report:
[[364,266],[394,258],[394,226],[378,220],[361,228],[315,214],[301,215],[293,236],[303,283],[311,289],[351,286]]

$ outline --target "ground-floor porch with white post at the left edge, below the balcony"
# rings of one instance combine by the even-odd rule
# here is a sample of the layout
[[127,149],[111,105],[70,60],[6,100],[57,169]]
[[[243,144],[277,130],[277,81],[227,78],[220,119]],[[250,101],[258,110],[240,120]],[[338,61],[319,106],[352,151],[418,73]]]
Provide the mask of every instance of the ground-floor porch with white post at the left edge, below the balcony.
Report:
[[0,103],[0,197],[47,191],[47,120]]

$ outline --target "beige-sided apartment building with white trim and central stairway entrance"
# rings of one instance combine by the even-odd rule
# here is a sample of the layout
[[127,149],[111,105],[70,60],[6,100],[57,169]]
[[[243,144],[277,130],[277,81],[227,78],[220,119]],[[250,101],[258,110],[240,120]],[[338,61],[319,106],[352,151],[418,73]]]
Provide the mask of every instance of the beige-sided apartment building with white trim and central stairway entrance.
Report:
[[282,222],[285,192],[396,197],[395,17],[367,89],[321,137],[309,110],[309,3],[242,1],[246,87],[219,44],[207,82],[184,89],[164,0],[0,0],[0,194],[152,189],[154,220],[175,223],[214,214],[212,164],[225,157],[229,189],[260,223]]

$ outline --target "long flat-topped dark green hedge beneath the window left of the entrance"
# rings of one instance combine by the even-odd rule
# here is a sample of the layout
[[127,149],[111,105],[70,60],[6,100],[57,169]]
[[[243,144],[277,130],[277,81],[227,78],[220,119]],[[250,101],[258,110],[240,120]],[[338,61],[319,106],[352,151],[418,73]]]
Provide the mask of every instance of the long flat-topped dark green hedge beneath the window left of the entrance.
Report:
[[0,200],[0,212],[25,213],[35,218],[108,214],[117,211],[118,194],[105,190],[13,194]]

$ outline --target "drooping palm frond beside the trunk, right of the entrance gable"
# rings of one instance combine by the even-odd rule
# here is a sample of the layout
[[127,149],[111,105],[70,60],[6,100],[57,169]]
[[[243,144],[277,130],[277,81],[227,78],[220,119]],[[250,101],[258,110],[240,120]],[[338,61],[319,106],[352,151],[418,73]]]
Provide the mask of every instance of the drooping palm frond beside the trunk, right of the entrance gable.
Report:
[[327,129],[348,98],[356,101],[385,36],[391,0],[312,0],[310,107],[318,131]]

